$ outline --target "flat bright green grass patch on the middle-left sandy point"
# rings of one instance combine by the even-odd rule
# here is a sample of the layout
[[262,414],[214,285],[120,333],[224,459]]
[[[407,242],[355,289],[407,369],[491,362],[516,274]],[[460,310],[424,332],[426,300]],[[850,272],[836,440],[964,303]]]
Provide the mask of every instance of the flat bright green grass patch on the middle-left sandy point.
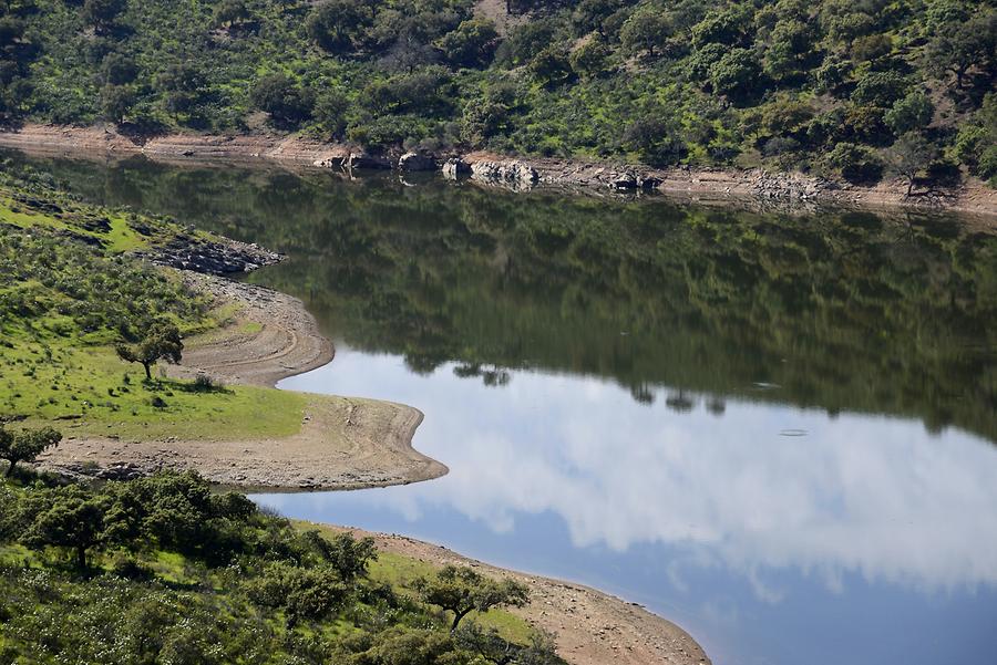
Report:
[[0,413],[24,417],[27,425],[55,424],[68,436],[290,436],[309,401],[257,386],[196,392],[186,381],[146,382],[141,366],[123,363],[106,345],[8,343],[0,353]]

